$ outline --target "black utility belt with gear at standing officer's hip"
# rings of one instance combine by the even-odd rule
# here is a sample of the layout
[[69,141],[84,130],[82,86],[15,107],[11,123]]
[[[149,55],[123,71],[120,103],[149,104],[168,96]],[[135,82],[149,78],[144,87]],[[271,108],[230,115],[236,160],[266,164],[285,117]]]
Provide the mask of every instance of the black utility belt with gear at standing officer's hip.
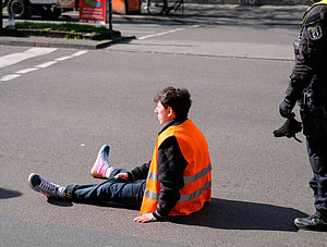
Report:
[[303,91],[300,115],[303,122],[303,134],[306,137],[327,136],[327,104],[316,106],[310,87]]

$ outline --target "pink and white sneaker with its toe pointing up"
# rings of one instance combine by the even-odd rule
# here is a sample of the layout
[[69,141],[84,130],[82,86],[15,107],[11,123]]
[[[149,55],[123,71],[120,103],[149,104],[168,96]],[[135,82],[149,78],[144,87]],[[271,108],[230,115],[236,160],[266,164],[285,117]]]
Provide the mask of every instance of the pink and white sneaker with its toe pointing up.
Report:
[[108,156],[109,156],[110,147],[108,145],[104,145],[99,150],[96,161],[94,162],[93,168],[90,169],[90,175],[94,177],[105,178],[107,176],[107,170],[110,168]]

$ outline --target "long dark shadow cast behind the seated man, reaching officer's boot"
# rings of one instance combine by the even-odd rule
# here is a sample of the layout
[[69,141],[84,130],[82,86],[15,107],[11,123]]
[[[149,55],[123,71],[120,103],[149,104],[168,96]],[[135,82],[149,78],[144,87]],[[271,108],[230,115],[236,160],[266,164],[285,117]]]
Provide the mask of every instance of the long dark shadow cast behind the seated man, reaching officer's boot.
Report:
[[298,232],[293,224],[298,217],[307,214],[280,206],[213,198],[201,211],[172,218],[171,222],[223,230]]

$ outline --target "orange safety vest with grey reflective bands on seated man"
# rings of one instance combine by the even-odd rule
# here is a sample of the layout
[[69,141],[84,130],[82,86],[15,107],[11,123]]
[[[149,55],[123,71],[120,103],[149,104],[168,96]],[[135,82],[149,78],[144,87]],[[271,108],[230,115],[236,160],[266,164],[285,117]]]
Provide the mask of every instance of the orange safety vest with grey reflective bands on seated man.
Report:
[[168,127],[157,138],[141,214],[150,213],[157,209],[160,193],[157,170],[158,148],[170,136],[177,138],[181,152],[189,164],[183,173],[184,187],[180,189],[181,198],[169,215],[187,215],[202,209],[204,202],[211,199],[211,163],[208,145],[202,132],[191,120],[186,120],[180,125]]

